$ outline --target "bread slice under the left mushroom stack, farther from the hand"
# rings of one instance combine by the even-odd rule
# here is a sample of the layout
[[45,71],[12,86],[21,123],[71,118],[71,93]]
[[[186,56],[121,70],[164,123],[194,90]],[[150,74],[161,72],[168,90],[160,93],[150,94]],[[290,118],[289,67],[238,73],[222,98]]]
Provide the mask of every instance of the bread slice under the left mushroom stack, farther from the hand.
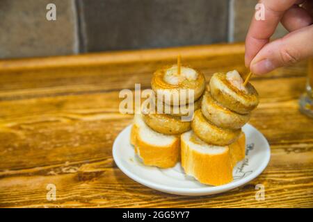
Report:
[[155,132],[145,124],[142,114],[135,114],[131,144],[145,165],[169,168],[179,160],[179,137]]

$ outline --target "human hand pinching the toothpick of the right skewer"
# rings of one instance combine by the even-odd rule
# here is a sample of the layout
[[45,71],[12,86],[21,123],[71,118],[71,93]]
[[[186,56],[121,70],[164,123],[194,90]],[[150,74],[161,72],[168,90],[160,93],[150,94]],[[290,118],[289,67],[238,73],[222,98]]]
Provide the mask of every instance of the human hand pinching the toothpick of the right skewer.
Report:
[[[246,36],[246,67],[266,74],[313,56],[313,0],[262,0],[265,20],[253,17]],[[301,4],[301,6],[299,6]],[[278,23],[290,32],[269,42]]]

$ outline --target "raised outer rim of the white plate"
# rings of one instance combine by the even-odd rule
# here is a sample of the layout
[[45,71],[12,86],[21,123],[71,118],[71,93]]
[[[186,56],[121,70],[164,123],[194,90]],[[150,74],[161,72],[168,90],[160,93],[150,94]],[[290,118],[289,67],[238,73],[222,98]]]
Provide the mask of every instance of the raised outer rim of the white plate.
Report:
[[267,146],[265,148],[266,149],[266,158],[264,158],[264,161],[257,168],[256,171],[254,171],[250,175],[246,176],[245,178],[241,178],[239,180],[227,183],[225,185],[219,185],[219,186],[198,187],[198,188],[185,188],[184,187],[184,188],[182,188],[182,187],[169,187],[167,185],[155,184],[154,182],[151,182],[150,180],[141,178],[141,177],[137,176],[136,174],[132,173],[131,171],[129,171],[126,167],[123,166],[123,164],[120,162],[120,159],[118,158],[117,142],[120,139],[120,137],[122,137],[123,133],[125,133],[127,130],[129,130],[129,132],[130,132],[130,128],[131,128],[132,125],[133,124],[130,124],[129,126],[125,127],[118,134],[118,136],[115,138],[115,140],[113,142],[113,148],[112,148],[113,160],[114,160],[115,164],[118,166],[118,168],[123,173],[125,173],[126,176],[128,176],[132,180],[135,180],[136,182],[140,183],[141,185],[145,185],[146,187],[150,187],[151,189],[156,189],[158,191],[163,191],[165,193],[190,196],[190,195],[217,194],[217,193],[220,193],[220,192],[223,192],[223,191],[228,191],[230,189],[234,189],[236,187],[240,187],[240,186],[246,184],[247,182],[250,182],[251,180],[254,180],[255,178],[257,178],[257,176],[259,176],[264,171],[264,169],[268,165],[268,162],[271,160],[271,148],[270,148],[270,145],[269,145],[266,137],[264,137],[264,135],[261,132],[259,132],[259,130],[257,130],[257,128],[255,128],[254,126],[250,125],[249,123],[246,123],[245,126],[252,128],[252,130],[256,130],[259,133],[260,138],[265,142],[265,144],[267,144]]

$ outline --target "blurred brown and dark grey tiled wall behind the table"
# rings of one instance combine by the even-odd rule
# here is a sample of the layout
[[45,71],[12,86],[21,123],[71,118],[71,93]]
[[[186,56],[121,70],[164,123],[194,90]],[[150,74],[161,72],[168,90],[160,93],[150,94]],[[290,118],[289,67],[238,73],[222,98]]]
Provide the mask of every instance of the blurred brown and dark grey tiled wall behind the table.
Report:
[[[56,21],[46,19],[48,3]],[[256,0],[1,0],[0,58],[243,42]],[[280,26],[274,37],[287,31]]]

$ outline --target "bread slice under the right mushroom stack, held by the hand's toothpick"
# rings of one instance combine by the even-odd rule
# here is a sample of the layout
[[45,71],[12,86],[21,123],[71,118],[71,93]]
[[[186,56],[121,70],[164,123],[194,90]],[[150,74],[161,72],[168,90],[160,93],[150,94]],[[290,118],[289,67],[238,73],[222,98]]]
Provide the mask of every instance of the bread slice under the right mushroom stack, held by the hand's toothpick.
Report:
[[232,169],[244,157],[245,137],[228,146],[202,141],[192,130],[181,135],[182,167],[185,173],[206,185],[224,185],[233,180]]

